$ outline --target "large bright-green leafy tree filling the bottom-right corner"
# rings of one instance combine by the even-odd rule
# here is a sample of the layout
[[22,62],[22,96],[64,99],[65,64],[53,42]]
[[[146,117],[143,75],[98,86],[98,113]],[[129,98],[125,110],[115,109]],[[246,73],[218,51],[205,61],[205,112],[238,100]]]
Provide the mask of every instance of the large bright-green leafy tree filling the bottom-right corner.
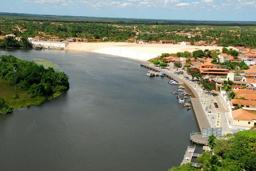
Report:
[[256,170],[256,131],[255,129],[238,131],[235,134],[227,134],[215,141],[213,152],[222,157],[222,167],[235,168],[235,171]]

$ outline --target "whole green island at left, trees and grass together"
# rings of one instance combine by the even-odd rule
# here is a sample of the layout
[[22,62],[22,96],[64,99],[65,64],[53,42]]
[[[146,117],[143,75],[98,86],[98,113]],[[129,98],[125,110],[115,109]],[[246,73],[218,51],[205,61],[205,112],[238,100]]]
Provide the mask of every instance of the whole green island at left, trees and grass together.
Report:
[[[36,60],[37,61],[37,60]],[[29,62],[14,56],[0,56],[0,113],[40,105],[69,89],[68,76],[56,67],[44,67],[44,60]]]

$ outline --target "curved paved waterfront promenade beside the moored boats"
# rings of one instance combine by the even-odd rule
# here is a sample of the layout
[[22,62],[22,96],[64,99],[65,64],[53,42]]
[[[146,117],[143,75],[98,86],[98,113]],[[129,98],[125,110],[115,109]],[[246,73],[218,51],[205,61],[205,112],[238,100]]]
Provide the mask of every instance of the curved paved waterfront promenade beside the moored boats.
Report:
[[[190,89],[193,94],[192,97],[195,97],[191,98],[191,103],[201,132],[203,128],[210,127],[222,127],[222,135],[237,131],[229,128],[229,121],[232,120],[232,118],[228,115],[227,104],[223,102],[219,93],[213,95],[204,91],[195,80],[191,80],[191,76],[186,74],[186,71],[184,71],[184,74],[175,75],[174,72],[177,72],[177,70],[173,66],[169,67],[170,70],[166,70],[164,68],[156,67],[149,62],[144,62],[140,65],[150,68],[150,70],[163,72],[168,78],[183,83],[187,89]],[[184,79],[184,76],[188,76],[190,80]],[[214,102],[218,103],[219,108],[214,107]]]

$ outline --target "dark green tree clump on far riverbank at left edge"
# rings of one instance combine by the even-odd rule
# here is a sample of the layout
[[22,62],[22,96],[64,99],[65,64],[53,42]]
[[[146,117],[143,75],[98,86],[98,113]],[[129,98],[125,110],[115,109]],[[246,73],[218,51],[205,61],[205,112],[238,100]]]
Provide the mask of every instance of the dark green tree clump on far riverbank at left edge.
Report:
[[32,43],[27,38],[20,38],[18,41],[14,37],[8,36],[6,39],[0,40],[0,47],[32,48]]

